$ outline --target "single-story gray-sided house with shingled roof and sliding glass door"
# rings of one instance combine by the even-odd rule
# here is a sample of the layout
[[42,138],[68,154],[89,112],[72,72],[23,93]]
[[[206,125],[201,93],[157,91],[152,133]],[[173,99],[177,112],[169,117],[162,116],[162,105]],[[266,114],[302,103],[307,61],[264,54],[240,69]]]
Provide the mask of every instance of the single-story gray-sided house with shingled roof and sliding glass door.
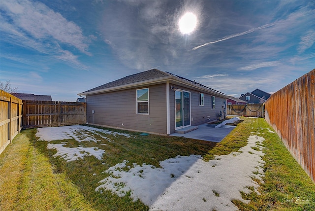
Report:
[[157,69],[129,75],[78,94],[86,96],[87,122],[169,135],[225,117],[228,96]]

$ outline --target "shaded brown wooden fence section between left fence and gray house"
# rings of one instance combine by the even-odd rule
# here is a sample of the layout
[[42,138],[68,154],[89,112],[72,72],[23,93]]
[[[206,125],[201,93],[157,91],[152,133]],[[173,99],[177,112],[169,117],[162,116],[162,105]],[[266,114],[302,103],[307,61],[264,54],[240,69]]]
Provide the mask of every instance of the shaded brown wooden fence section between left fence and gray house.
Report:
[[23,127],[54,127],[86,123],[86,103],[23,101]]

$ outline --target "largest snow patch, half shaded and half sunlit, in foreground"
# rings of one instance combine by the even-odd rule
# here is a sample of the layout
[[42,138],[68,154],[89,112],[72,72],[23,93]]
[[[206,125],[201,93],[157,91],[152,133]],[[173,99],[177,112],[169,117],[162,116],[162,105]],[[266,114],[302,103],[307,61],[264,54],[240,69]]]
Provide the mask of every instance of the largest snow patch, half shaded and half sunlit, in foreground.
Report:
[[242,153],[216,156],[209,162],[200,155],[177,156],[161,161],[161,168],[134,163],[123,171],[129,166],[124,160],[104,172],[110,176],[99,181],[95,191],[108,189],[121,197],[130,191],[130,198],[140,199],[151,210],[238,210],[231,200],[248,203],[240,191],[249,193],[246,187],[253,186],[257,192],[259,184],[252,178],[262,180],[264,176],[262,141],[264,138],[251,135],[240,148]]

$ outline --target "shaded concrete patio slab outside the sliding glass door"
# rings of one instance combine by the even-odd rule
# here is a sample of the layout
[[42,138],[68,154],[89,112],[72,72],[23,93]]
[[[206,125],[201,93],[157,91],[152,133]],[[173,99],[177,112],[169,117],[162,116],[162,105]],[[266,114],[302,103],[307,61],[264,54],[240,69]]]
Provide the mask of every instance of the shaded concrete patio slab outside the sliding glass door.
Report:
[[236,126],[222,125],[220,128],[215,128],[215,124],[205,123],[198,125],[197,130],[189,133],[179,134],[174,133],[170,136],[184,137],[189,139],[220,142],[226,137]]

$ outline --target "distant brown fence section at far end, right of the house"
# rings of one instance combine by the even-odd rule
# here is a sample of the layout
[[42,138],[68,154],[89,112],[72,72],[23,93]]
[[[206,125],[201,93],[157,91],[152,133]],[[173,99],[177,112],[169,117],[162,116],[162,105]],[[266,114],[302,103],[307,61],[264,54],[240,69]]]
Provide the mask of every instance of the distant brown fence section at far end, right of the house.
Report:
[[263,104],[227,105],[227,115],[264,117]]

